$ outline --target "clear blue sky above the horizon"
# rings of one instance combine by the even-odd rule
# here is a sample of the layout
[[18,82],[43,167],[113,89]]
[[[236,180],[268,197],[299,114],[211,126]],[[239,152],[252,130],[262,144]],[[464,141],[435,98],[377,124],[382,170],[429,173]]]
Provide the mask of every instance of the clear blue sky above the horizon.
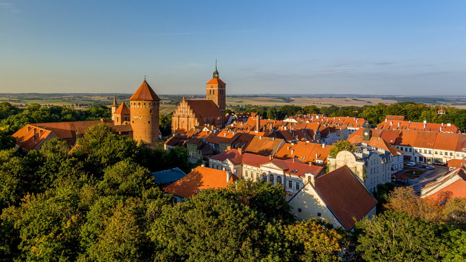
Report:
[[0,93],[466,95],[466,1],[0,0]]

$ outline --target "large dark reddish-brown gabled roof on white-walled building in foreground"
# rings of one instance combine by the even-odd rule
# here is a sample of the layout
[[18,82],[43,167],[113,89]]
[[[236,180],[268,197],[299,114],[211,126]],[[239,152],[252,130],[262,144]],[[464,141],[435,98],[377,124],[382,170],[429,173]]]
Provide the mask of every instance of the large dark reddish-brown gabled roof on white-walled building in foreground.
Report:
[[350,230],[377,205],[377,200],[344,165],[315,178],[315,189],[341,224]]

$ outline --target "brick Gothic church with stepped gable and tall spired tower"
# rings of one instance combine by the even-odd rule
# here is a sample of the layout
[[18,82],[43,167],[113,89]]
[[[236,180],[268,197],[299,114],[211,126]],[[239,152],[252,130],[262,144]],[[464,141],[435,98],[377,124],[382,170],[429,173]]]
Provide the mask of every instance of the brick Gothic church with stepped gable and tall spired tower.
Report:
[[226,85],[220,80],[215,62],[212,79],[206,84],[206,99],[185,99],[179,103],[172,116],[172,133],[184,134],[196,126],[225,125]]

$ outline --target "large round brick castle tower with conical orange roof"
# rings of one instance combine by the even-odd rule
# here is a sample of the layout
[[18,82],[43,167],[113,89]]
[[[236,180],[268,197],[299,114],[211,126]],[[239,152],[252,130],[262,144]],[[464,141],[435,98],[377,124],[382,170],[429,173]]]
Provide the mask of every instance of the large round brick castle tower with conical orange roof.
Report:
[[146,143],[155,143],[159,138],[159,105],[160,98],[144,82],[129,99],[130,121],[133,139],[142,139]]

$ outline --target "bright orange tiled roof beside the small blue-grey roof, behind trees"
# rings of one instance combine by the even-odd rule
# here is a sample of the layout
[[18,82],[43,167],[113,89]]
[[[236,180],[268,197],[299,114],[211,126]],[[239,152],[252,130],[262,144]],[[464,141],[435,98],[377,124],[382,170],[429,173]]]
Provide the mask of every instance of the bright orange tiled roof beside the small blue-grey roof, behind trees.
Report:
[[228,184],[239,179],[234,174],[230,174],[227,182],[227,173],[227,171],[198,166],[175,183],[164,187],[163,190],[176,196],[190,198],[197,195],[200,190],[226,188]]

